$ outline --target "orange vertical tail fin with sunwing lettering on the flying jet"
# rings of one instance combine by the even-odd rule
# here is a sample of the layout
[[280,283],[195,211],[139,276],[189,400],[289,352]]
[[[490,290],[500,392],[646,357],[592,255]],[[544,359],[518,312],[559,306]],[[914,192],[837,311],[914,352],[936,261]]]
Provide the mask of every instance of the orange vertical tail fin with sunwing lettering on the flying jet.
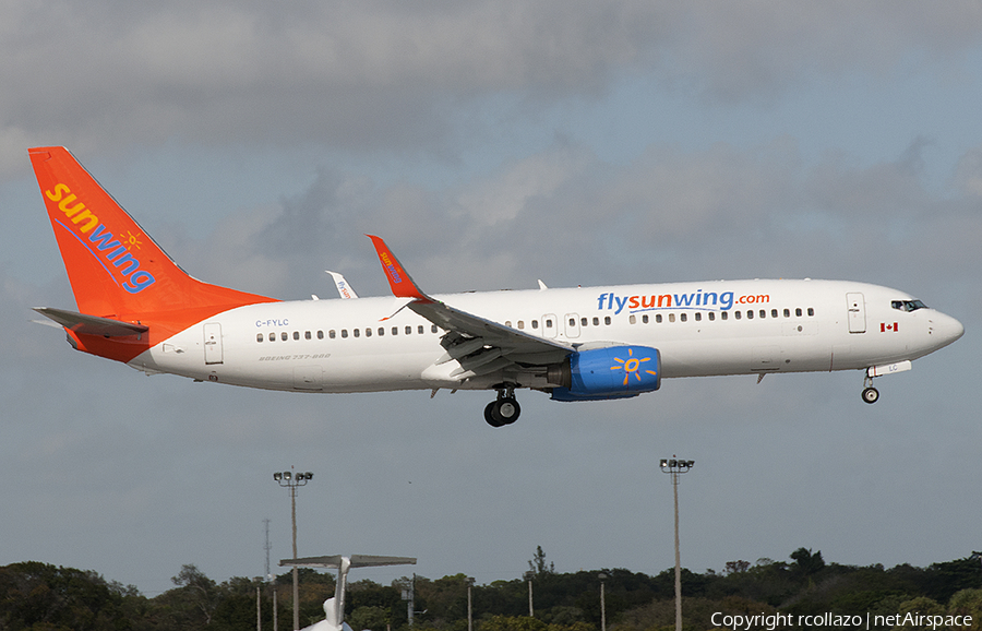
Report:
[[274,301],[189,276],[64,147],[28,153],[82,313],[131,320],[183,311],[178,319],[191,324]]

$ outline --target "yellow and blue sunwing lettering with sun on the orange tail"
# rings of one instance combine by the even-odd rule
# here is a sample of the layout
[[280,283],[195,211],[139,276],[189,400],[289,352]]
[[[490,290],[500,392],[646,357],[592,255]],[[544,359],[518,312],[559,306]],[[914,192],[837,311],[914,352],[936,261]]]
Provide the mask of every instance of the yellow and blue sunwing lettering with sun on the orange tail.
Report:
[[[113,283],[130,294],[139,294],[156,282],[153,274],[140,269],[140,260],[133,255],[133,248],[139,250],[143,245],[140,234],[127,230],[125,236],[113,237],[99,218],[79,201],[68,184],[55,184],[55,189],[45,191],[45,195],[52,202],[58,202],[58,210],[71,219],[72,225],[58,218],[56,221],[95,257]],[[92,234],[86,235],[87,233]]]

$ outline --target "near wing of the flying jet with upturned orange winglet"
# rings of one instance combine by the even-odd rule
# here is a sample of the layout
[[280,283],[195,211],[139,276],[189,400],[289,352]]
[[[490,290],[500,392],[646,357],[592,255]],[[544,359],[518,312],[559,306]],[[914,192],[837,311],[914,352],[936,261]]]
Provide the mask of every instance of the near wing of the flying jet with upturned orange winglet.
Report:
[[447,331],[441,341],[446,354],[436,364],[456,359],[460,368],[452,377],[463,380],[510,365],[555,364],[575,352],[571,344],[531,335],[434,300],[420,290],[381,237],[368,237],[375,246],[392,293],[398,298],[410,298],[409,309]]

